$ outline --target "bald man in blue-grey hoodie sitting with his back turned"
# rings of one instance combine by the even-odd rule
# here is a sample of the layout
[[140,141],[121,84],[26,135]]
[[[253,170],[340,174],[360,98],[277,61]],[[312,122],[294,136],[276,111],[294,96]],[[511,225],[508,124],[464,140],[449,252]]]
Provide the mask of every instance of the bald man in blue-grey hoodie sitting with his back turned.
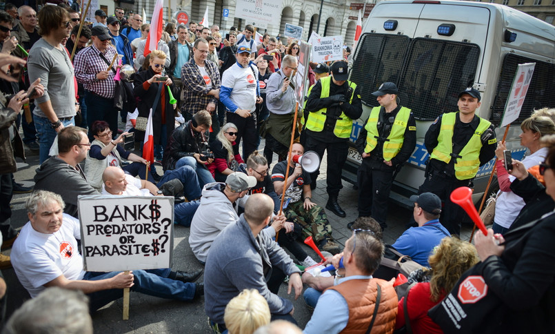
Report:
[[270,223],[273,210],[274,202],[268,195],[250,196],[239,221],[225,228],[210,247],[205,269],[204,309],[210,324],[219,331],[225,329],[225,306],[245,288],[258,290],[266,299],[272,320],[295,322],[292,302],[277,293],[283,278],[289,275],[287,293],[294,287],[295,298],[301,295],[303,283],[299,268],[268,234],[261,233]]

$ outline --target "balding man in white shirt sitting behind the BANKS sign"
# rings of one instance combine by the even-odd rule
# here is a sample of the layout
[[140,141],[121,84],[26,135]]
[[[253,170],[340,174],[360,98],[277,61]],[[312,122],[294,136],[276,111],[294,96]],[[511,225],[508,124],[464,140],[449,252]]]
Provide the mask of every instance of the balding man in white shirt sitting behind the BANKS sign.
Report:
[[[186,179],[185,184],[182,184],[185,197],[190,199],[190,202],[181,202],[174,205],[174,219],[177,224],[189,227],[191,226],[191,221],[193,219],[196,209],[199,208],[201,204],[200,200],[192,200],[201,197],[199,193],[198,179],[196,179],[196,173],[190,166],[182,166],[176,170],[181,170],[185,172],[185,175],[190,175],[189,179]],[[174,170],[168,170],[168,173]],[[103,195],[119,195],[119,196],[164,196],[164,195],[175,195],[172,193],[170,187],[165,188],[166,185],[172,184],[172,182],[179,183],[179,179],[171,179],[168,183],[165,183],[159,189],[157,186],[152,184],[150,181],[143,179],[137,179],[137,177],[132,177],[132,175],[123,172],[123,169],[119,167],[107,167],[102,174],[102,194]],[[192,186],[194,185],[194,186]],[[168,193],[169,192],[169,193]]]

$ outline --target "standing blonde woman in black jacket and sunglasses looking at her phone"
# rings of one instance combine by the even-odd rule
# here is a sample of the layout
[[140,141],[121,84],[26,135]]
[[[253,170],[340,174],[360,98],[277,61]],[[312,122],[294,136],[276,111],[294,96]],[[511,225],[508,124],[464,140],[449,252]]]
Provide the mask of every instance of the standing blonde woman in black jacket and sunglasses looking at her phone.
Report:
[[[174,83],[169,77],[163,80],[163,69],[166,55],[163,51],[153,50],[150,52],[150,67],[135,74],[133,92],[137,97],[137,108],[139,117],[147,117],[152,108],[152,135],[154,137],[154,154],[157,159],[162,159],[163,148],[168,143],[175,127],[176,104],[170,103],[168,87],[174,94]],[[163,81],[161,81],[161,79]],[[157,99],[158,97],[158,99]],[[154,101],[157,101],[155,110]],[[135,138],[143,141],[144,131],[136,131]]]

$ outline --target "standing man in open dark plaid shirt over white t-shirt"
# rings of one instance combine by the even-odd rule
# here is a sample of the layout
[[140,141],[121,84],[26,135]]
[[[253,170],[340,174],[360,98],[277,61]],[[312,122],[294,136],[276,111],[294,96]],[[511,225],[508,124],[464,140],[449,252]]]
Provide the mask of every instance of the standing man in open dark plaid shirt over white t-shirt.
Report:
[[[193,45],[193,57],[181,68],[181,112],[185,119],[201,110],[212,115],[212,132],[210,140],[216,137],[220,130],[216,106],[220,96],[220,72],[216,63],[206,59],[208,57],[208,41],[196,39]],[[214,138],[212,138],[214,136]]]

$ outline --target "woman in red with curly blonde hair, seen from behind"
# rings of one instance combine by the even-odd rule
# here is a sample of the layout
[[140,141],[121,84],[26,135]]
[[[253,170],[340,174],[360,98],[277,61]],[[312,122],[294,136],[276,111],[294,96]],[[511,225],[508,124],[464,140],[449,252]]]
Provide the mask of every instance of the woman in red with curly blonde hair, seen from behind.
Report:
[[[455,286],[461,275],[480,261],[476,248],[457,237],[444,237],[430,255],[430,282],[414,284],[407,295],[407,311],[414,334],[443,333],[427,315]],[[405,297],[399,300],[395,328],[405,326]]]

